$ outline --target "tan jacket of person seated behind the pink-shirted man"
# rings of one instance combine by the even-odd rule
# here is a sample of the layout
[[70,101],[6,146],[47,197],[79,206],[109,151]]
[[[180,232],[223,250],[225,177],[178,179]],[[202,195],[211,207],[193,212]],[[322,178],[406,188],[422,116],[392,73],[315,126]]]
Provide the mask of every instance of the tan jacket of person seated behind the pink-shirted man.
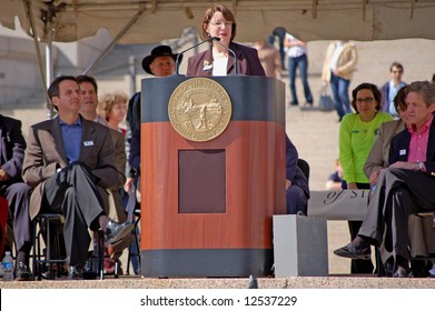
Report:
[[388,153],[392,138],[395,134],[402,132],[405,128],[406,126],[402,119],[380,124],[379,136],[373,144],[370,153],[368,153],[366,163],[364,165],[364,173],[367,175],[367,178],[370,178],[373,172],[389,165]]

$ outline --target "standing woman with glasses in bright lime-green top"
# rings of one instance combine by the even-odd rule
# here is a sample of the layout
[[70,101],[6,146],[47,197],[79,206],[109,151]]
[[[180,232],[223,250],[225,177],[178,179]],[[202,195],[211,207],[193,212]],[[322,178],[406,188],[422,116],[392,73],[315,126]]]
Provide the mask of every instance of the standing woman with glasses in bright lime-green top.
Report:
[[[393,118],[380,111],[382,93],[372,83],[362,83],[352,92],[352,107],[355,113],[346,114],[338,131],[339,161],[343,167],[343,189],[369,189],[364,164],[372,150],[379,127]],[[360,221],[349,221],[350,238],[359,230]],[[373,273],[374,267],[368,260],[354,260],[352,273]]]

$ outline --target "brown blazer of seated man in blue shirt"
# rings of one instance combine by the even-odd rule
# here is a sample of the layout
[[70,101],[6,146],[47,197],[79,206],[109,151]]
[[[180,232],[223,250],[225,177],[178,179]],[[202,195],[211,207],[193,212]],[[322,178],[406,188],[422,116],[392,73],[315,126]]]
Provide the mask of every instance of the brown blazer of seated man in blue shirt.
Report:
[[[83,118],[81,121],[82,143],[79,161],[99,179],[99,187],[116,187],[119,175],[115,165],[115,147],[109,129]],[[67,164],[59,117],[32,126],[29,129],[22,168],[23,180],[34,187],[30,197],[30,219],[33,219],[41,208],[46,179],[56,174],[58,168],[65,168]]]

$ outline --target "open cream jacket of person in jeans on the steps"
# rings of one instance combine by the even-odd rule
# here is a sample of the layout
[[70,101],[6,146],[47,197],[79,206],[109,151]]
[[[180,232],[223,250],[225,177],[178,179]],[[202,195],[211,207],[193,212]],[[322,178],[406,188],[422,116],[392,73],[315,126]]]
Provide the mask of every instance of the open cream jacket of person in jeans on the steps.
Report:
[[[330,81],[330,59],[333,58],[333,53],[336,47],[336,42],[333,41],[329,43],[328,49],[326,50],[326,56],[324,60],[324,67],[322,71],[322,81],[329,82]],[[343,51],[338,58],[337,62],[337,71],[338,77],[352,80],[354,78],[354,72],[356,70],[356,62],[357,62],[357,53],[356,53],[356,47],[354,42],[347,41],[344,43]]]

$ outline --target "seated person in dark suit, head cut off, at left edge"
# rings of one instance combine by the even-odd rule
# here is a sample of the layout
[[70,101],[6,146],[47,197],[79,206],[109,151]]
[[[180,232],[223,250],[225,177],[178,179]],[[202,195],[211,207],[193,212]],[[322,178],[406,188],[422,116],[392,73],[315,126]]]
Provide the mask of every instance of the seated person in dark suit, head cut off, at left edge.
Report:
[[32,223],[29,217],[31,187],[22,182],[21,170],[26,140],[21,121],[0,114],[0,195],[9,204],[17,250],[16,280],[30,281],[29,254],[32,247]]

